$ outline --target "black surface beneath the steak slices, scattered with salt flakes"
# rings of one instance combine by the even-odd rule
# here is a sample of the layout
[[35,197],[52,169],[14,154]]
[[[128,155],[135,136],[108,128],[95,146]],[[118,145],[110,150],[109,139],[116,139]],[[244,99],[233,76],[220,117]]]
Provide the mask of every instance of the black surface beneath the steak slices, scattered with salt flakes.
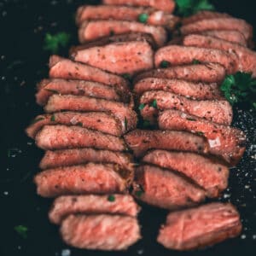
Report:
[[[70,32],[73,44],[77,29],[74,11],[86,1],[0,1],[0,255],[255,255],[256,251],[256,118],[251,110],[235,109],[234,125],[247,133],[247,152],[230,170],[230,187],[222,201],[231,201],[241,212],[241,237],[192,253],[167,251],[155,242],[166,212],[143,207],[140,214],[143,240],[124,253],[102,253],[67,247],[49,224],[49,200],[36,195],[32,176],[38,172],[43,152],[24,134],[37,113],[35,84],[47,77],[49,53],[43,49],[46,32]],[[92,1],[91,1],[92,2]],[[256,26],[253,1],[212,1],[221,11],[248,20]],[[88,1],[86,2],[88,3]],[[63,49],[61,55],[67,55]],[[16,225],[28,228],[23,239]]]

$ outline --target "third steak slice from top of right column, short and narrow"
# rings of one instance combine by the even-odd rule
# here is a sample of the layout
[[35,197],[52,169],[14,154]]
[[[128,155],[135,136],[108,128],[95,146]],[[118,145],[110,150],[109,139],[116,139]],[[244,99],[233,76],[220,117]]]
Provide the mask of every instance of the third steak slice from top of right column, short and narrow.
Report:
[[247,47],[246,38],[241,32],[236,30],[209,30],[206,32],[201,32],[201,35],[223,39]]

